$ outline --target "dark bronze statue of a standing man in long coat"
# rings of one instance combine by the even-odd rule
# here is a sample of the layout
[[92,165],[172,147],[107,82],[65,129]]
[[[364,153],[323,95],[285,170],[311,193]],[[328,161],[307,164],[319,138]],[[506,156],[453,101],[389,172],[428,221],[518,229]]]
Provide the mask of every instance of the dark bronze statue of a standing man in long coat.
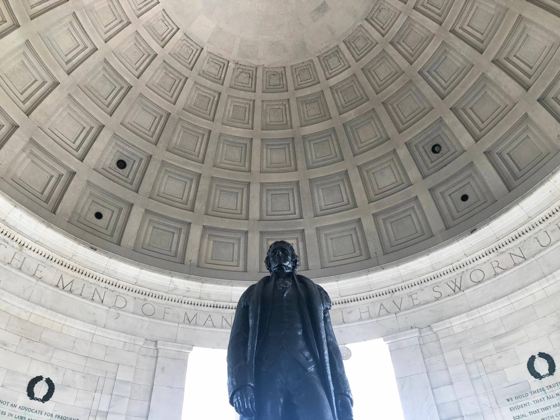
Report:
[[286,241],[270,245],[270,276],[241,296],[227,348],[230,404],[241,420],[352,420],[352,393],[326,291],[296,274]]

